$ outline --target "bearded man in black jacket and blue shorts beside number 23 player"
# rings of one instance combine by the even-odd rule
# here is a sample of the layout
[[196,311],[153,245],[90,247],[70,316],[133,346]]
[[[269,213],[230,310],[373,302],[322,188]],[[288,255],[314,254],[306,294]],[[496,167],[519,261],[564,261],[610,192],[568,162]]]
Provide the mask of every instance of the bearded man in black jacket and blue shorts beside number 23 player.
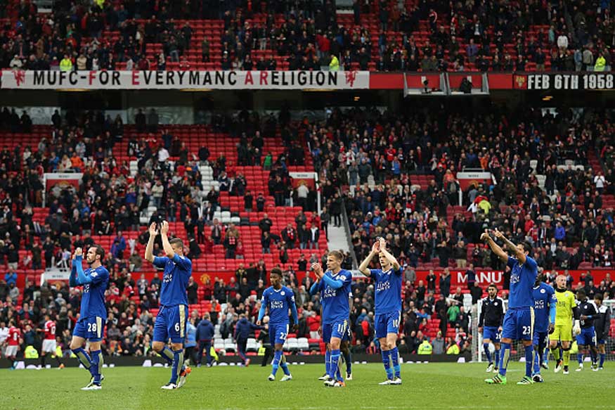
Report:
[[[487,292],[489,293],[488,297],[481,301],[479,333],[483,334],[483,348],[485,356],[489,361],[487,371],[497,371],[500,357],[500,338],[502,337],[502,324],[505,313],[504,300],[498,297],[498,288],[493,283],[489,285]],[[493,346],[496,347],[493,360],[491,359],[491,352],[489,352],[489,343],[492,341]]]

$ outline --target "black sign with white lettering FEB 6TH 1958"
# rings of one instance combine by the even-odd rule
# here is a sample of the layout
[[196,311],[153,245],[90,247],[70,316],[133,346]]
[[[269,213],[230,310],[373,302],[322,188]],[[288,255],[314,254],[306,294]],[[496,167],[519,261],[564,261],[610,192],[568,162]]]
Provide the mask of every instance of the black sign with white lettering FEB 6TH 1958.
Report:
[[611,90],[615,88],[615,78],[610,72],[519,74],[514,75],[513,88],[541,91]]

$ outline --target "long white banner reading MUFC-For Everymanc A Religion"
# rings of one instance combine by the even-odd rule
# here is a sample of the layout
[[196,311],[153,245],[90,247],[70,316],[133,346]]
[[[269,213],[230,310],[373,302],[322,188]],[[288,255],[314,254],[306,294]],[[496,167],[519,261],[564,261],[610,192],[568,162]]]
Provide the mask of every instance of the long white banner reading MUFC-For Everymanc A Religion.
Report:
[[369,89],[368,71],[2,72],[2,89]]

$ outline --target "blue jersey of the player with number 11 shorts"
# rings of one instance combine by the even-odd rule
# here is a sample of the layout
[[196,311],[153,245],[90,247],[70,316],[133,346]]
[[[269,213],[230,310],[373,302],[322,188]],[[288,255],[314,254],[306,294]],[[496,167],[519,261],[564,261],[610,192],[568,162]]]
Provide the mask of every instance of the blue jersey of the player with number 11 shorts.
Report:
[[323,304],[323,323],[348,320],[350,316],[348,295],[351,293],[350,285],[352,282],[352,274],[350,271],[342,269],[337,272],[337,275],[332,274],[331,271],[326,271],[325,275],[329,276],[334,281],[341,280],[344,284],[341,288],[334,289],[322,279],[318,282]]

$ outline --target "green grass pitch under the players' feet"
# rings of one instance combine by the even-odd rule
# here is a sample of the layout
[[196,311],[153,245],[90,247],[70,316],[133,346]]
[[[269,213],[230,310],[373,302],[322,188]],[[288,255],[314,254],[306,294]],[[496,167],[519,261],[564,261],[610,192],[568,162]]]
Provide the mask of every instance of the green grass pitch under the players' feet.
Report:
[[[324,387],[316,380],[324,366],[290,366],[294,380],[266,380],[271,366],[216,366],[193,369],[180,390],[160,390],[169,369],[105,369],[103,390],[82,392],[89,381],[84,369],[0,370],[0,409],[614,409],[615,369],[585,369],[564,376],[543,371],[546,382],[515,383],[524,365],[509,369],[508,384],[486,385],[484,364],[403,364],[401,386],[379,386],[384,369],[356,364],[345,388]],[[607,364],[608,365],[608,364]],[[278,380],[283,375],[278,371]]]

